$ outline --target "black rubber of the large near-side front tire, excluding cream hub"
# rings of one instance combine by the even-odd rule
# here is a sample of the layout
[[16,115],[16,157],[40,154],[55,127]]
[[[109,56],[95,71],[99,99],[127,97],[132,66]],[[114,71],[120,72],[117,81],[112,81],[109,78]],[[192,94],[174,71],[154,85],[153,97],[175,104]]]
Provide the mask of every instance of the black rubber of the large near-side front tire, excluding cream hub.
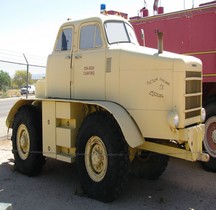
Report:
[[[108,154],[107,170],[99,181],[89,176],[85,160],[87,143],[95,136],[102,140]],[[77,137],[76,165],[83,190],[93,199],[111,202],[126,187],[130,168],[128,145],[110,113],[94,112],[84,120]]]

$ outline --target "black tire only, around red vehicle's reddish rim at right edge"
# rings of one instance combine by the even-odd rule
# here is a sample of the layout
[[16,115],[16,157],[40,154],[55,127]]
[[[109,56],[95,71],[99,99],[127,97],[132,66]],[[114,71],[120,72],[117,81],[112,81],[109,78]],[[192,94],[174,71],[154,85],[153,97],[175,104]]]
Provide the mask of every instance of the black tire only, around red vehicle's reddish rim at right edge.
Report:
[[[216,116],[216,103],[208,104],[205,107],[205,110],[206,110],[206,122],[207,122],[207,120],[210,117]],[[208,130],[208,127],[206,127],[205,134],[207,134],[207,130]],[[205,147],[205,144],[203,144],[203,150],[209,153],[207,148]],[[201,164],[206,171],[216,172],[216,158],[215,157],[210,155],[210,160],[208,162],[201,162]]]

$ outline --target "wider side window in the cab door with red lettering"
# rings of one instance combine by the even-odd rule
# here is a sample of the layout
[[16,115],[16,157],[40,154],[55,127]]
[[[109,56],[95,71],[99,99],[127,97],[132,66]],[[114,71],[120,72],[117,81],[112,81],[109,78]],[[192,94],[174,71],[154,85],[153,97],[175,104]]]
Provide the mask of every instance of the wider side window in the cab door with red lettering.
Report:
[[80,49],[102,47],[100,28],[97,25],[83,26],[80,30]]

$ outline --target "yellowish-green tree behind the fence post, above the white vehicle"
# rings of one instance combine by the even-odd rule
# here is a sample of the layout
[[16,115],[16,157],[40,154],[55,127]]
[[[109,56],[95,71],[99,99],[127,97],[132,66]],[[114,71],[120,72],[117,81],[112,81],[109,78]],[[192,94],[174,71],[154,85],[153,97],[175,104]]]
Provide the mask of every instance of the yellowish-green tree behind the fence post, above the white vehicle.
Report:
[[[32,74],[30,72],[28,73],[28,81],[29,84],[32,84]],[[21,88],[26,86],[26,82],[27,82],[26,70],[17,70],[13,78],[13,86],[17,88]]]

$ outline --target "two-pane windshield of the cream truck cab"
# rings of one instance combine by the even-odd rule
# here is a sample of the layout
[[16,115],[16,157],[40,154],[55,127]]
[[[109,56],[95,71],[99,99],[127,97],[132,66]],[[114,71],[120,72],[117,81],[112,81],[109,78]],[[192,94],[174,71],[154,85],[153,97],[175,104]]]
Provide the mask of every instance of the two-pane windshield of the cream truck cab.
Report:
[[109,21],[104,24],[109,44],[133,43],[137,44],[137,38],[133,28],[123,21]]

